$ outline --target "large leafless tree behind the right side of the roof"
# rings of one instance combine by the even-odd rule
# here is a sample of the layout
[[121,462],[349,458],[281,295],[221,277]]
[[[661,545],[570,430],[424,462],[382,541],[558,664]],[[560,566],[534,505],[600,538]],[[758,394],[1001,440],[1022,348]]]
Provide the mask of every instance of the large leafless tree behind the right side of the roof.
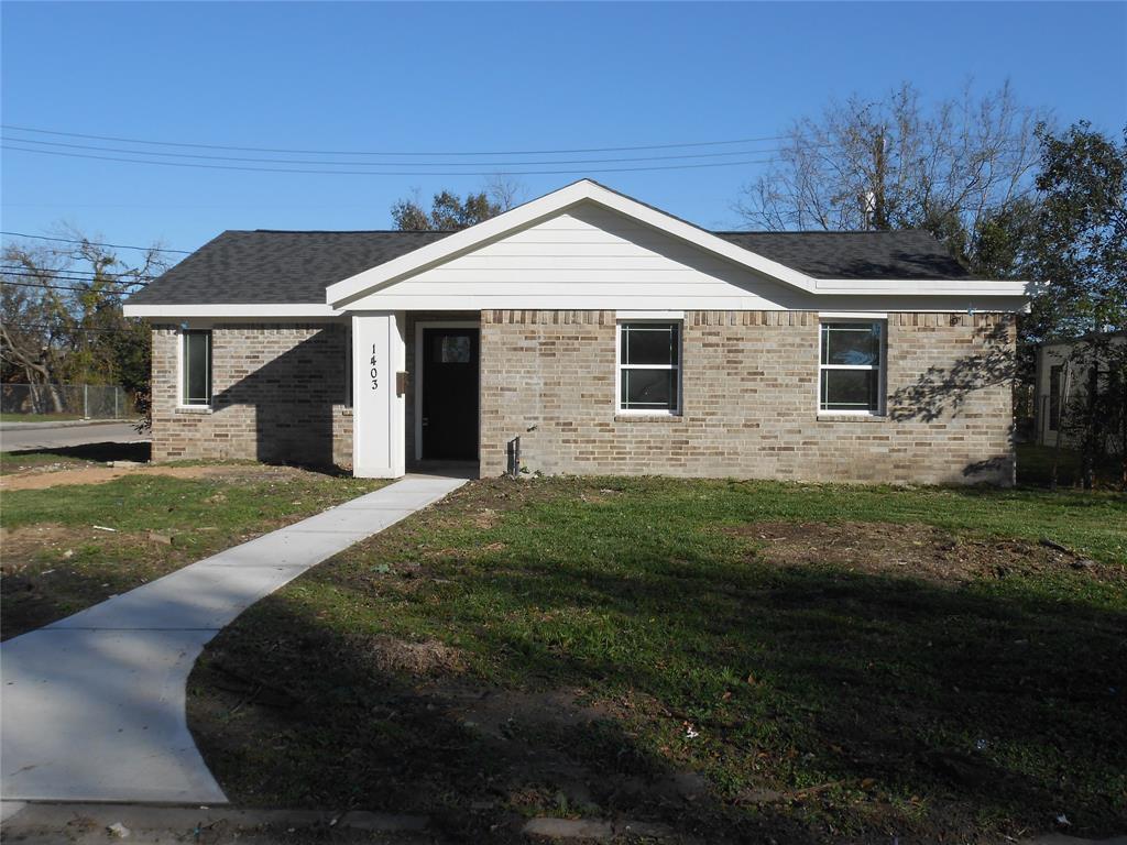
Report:
[[853,96],[799,119],[736,208],[771,230],[925,229],[966,258],[986,222],[1031,192],[1045,119],[1009,83],[982,97],[968,84],[932,107],[907,83]]

